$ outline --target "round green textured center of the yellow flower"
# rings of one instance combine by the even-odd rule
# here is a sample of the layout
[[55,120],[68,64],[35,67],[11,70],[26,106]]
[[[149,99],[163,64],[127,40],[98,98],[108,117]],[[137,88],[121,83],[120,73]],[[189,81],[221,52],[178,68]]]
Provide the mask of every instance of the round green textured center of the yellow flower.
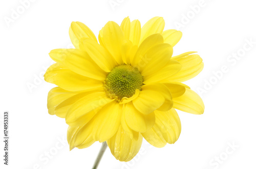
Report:
[[136,89],[141,90],[143,77],[137,68],[130,65],[115,67],[104,81],[106,94],[111,98],[121,101],[123,97],[132,97]]

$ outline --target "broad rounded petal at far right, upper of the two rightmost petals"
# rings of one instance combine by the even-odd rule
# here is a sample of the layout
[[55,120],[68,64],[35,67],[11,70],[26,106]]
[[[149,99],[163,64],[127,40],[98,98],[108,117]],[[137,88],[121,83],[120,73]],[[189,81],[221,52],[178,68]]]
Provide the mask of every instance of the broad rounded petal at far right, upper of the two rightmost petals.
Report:
[[178,61],[182,68],[175,75],[168,78],[170,81],[183,82],[198,75],[204,67],[203,60],[198,54],[179,55],[172,60]]

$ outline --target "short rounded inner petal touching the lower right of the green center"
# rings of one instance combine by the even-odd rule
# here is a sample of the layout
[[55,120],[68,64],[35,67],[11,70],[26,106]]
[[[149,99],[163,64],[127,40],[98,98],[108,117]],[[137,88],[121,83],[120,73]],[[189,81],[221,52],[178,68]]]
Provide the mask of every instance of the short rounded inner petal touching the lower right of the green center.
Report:
[[142,114],[148,115],[161,107],[164,101],[165,98],[161,93],[152,90],[143,90],[140,92],[139,96],[133,100],[133,104]]

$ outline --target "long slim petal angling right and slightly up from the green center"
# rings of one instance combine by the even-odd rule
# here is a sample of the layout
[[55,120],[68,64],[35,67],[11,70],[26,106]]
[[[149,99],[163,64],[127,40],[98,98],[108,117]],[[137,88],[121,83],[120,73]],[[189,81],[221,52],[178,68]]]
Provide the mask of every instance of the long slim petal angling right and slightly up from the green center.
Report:
[[181,70],[181,64],[174,60],[169,60],[168,63],[160,68],[155,73],[144,76],[143,83],[148,84],[152,82],[158,82],[178,73]]

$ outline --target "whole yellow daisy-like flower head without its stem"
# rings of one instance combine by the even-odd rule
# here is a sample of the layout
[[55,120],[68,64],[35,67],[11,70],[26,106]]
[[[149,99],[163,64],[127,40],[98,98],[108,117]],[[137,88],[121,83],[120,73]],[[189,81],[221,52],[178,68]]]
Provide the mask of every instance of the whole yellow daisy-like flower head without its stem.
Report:
[[108,144],[120,161],[131,160],[143,137],[155,147],[173,144],[181,123],[175,109],[203,114],[202,99],[183,81],[203,69],[195,52],[172,57],[182,33],[164,29],[162,17],[113,21],[93,32],[81,22],[69,30],[74,49],[54,49],[45,80],[50,115],[65,118],[70,150]]

